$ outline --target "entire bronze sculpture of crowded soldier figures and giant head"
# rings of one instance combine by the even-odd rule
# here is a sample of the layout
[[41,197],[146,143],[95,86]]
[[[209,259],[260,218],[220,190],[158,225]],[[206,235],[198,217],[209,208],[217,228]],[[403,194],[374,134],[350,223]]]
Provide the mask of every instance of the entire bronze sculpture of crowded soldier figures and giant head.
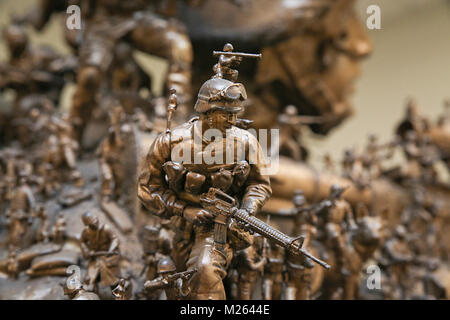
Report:
[[[390,141],[308,162],[302,131],[352,114],[372,50],[354,2],[48,0],[14,16],[0,298],[447,299],[450,103],[430,120],[411,99]],[[71,4],[72,54],[31,45],[26,26]],[[168,61],[163,96],[134,50]],[[275,174],[250,128],[280,129]]]

